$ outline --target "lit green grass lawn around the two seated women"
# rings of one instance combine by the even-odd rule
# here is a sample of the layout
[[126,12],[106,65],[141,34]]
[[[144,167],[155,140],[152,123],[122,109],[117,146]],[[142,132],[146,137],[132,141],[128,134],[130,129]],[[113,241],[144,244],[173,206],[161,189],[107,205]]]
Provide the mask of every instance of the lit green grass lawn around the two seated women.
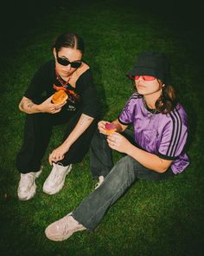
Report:
[[[105,120],[118,116],[133,91],[125,74],[137,55],[156,49],[169,56],[175,88],[188,111],[191,165],[171,181],[138,181],[94,232],[75,233],[69,240],[55,243],[46,239],[46,226],[72,211],[93,190],[89,155],[73,166],[59,194],[43,194],[42,185],[50,171],[48,154],[59,145],[64,127],[54,128],[35,197],[18,200],[15,158],[25,115],[17,106],[35,70],[52,57],[49,49],[54,38],[67,30],[79,33],[86,42],[85,60],[92,66]],[[202,255],[204,126],[203,85],[198,80],[202,73],[195,49],[189,49],[177,34],[160,16],[137,4],[88,1],[48,12],[16,42],[16,48],[5,49],[1,71],[1,255]],[[115,161],[119,157],[114,154]]]

